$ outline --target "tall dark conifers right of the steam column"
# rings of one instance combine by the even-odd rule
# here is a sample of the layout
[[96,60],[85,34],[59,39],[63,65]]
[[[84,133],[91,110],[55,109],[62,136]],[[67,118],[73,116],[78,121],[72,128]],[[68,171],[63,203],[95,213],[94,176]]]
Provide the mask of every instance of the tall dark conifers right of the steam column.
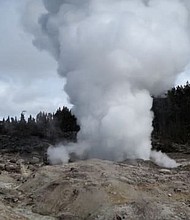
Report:
[[190,84],[169,90],[153,100],[152,136],[181,144],[190,143]]

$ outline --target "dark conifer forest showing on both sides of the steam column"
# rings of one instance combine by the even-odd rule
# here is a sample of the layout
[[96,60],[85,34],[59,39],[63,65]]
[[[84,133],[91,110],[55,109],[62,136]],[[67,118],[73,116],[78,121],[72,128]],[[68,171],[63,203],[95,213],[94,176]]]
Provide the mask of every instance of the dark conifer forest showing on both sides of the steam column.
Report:
[[[154,112],[152,137],[176,143],[190,143],[190,84],[174,87],[164,97],[153,97]],[[39,112],[25,119],[8,117],[0,122],[0,134],[38,136],[51,140],[76,141],[80,130],[76,117],[67,107],[55,113]]]

